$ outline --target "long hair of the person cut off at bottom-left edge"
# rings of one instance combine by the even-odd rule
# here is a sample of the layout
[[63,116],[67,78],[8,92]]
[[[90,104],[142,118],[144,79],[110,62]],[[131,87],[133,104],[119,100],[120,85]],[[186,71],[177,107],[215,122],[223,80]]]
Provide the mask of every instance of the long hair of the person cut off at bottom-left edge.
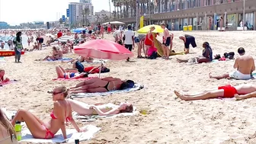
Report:
[[11,136],[11,140],[12,140],[12,135],[15,133],[14,131],[14,127],[11,125],[11,123],[9,122],[7,116],[5,115],[4,111],[2,110],[2,108],[0,108],[0,124],[5,127],[5,129],[8,131],[8,133]]

